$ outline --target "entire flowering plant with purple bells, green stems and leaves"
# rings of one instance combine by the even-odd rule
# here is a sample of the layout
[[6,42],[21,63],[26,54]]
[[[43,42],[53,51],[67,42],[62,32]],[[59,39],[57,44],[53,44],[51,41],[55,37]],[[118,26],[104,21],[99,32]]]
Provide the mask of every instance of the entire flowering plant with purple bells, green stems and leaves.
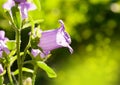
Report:
[[[39,0],[38,0],[39,1]],[[53,30],[42,31],[37,23],[32,18],[28,18],[28,11],[35,10],[36,5],[27,0],[8,0],[3,8],[6,9],[6,16],[9,19],[11,26],[15,31],[15,40],[9,40],[5,37],[5,32],[0,30],[0,85],[3,85],[3,76],[8,74],[10,85],[28,85],[29,83],[35,85],[35,77],[37,69],[44,70],[48,77],[55,78],[57,75],[52,68],[50,68],[45,61],[52,50],[66,47],[70,53],[73,49],[70,46],[71,38],[65,31],[65,25],[62,20],[59,20],[60,27]],[[30,20],[29,20],[30,19]],[[39,21],[39,20],[38,20]],[[28,25],[30,24],[30,25]],[[29,42],[25,46],[24,52],[21,52],[21,32],[24,26],[31,28],[29,33]],[[28,27],[25,27],[26,29]],[[30,60],[26,60],[26,55],[29,55]],[[38,56],[38,57],[37,57]],[[18,69],[12,72],[11,66],[17,61]],[[33,69],[28,68],[25,64],[32,64]],[[2,67],[4,66],[4,69]],[[28,77],[23,82],[23,71],[32,73],[32,79]],[[18,74],[18,83],[14,84],[13,77]],[[15,76],[14,76],[15,78]],[[14,80],[17,80],[16,78]],[[1,82],[2,81],[2,82]],[[29,81],[29,83],[28,83]]]

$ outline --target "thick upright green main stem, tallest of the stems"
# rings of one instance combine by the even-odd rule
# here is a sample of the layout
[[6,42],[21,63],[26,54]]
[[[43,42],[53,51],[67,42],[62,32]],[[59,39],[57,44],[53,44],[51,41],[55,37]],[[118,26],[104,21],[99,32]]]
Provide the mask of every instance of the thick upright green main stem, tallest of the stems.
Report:
[[17,63],[18,63],[18,69],[19,69],[19,85],[22,84],[22,58],[20,56],[20,42],[21,42],[21,30],[16,30],[16,46],[17,46]]

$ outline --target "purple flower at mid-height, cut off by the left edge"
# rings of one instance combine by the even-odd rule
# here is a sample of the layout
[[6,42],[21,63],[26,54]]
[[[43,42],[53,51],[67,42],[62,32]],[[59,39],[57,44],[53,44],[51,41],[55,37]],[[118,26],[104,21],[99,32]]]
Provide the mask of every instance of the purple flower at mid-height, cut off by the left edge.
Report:
[[3,52],[9,54],[10,51],[8,50],[7,46],[5,45],[8,38],[5,37],[5,32],[0,31],[0,58],[2,57]]

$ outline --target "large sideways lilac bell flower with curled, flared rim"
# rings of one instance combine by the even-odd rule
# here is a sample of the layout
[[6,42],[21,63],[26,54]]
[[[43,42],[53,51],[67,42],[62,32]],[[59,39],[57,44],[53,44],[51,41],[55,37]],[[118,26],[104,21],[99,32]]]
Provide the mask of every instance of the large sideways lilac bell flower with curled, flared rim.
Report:
[[51,50],[61,47],[67,47],[71,53],[73,52],[73,49],[69,45],[71,43],[71,38],[65,32],[62,20],[59,20],[59,22],[61,24],[60,28],[43,31],[41,34],[38,46],[43,50],[45,55],[49,54]]

